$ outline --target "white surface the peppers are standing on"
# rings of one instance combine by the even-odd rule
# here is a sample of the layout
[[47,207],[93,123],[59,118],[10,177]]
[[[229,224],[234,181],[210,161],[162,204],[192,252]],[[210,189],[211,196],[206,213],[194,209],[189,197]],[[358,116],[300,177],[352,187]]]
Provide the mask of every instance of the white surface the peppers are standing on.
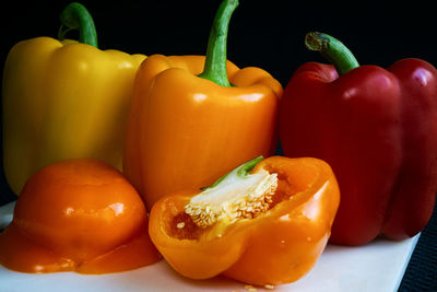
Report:
[[[0,210],[0,224],[12,217],[13,205]],[[291,292],[391,292],[397,291],[420,235],[402,242],[378,238],[368,245],[328,245],[315,268],[300,280],[277,285],[273,291]],[[271,291],[257,287],[258,291]],[[21,273],[0,266],[0,291],[247,291],[245,284],[217,277],[194,281],[175,272],[164,260],[141,269],[102,276],[58,272]]]

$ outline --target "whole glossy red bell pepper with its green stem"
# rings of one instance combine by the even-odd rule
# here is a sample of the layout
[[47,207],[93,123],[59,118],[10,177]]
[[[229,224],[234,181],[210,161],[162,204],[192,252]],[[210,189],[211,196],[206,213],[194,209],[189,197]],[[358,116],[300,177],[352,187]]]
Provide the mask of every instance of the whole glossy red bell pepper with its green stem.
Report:
[[280,109],[286,156],[328,162],[341,203],[331,242],[361,245],[378,234],[402,240],[421,232],[437,189],[437,70],[420,59],[387,70],[359,66],[338,39],[306,36],[333,63],[303,65]]

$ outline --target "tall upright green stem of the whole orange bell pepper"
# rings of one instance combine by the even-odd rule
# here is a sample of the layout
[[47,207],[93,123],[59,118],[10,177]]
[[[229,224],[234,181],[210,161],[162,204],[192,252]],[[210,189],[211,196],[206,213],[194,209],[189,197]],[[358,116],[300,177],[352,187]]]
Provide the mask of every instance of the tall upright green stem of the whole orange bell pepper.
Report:
[[226,72],[226,43],[231,16],[238,7],[238,0],[224,0],[215,14],[203,72],[198,77],[208,79],[222,86],[231,86]]

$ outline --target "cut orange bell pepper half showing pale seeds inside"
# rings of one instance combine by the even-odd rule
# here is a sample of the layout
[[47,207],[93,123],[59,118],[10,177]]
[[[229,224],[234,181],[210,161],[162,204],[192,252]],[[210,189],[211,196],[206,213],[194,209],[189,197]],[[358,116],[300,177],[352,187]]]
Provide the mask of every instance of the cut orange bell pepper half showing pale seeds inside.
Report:
[[176,271],[265,285],[296,281],[311,269],[340,202],[335,176],[317,159],[261,159],[200,194],[177,191],[154,205],[149,233]]

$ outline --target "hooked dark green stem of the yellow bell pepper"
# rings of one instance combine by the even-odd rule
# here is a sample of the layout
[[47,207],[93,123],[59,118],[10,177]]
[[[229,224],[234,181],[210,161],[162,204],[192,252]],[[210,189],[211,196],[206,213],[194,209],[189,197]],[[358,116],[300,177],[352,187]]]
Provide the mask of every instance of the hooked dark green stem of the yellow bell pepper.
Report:
[[58,39],[66,38],[66,33],[71,30],[79,31],[79,43],[97,47],[97,33],[93,17],[84,5],[72,2],[60,14],[61,27]]

